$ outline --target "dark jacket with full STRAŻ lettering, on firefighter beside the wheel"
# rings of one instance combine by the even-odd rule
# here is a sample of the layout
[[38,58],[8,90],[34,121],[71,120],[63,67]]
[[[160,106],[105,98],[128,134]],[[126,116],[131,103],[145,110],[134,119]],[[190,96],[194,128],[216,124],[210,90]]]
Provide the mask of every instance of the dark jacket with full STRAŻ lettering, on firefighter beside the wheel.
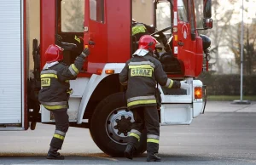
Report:
[[134,55],[128,60],[119,74],[119,82],[127,85],[128,109],[156,105],[156,82],[167,88],[180,88],[180,83],[167,77],[160,61],[150,52],[145,56]]

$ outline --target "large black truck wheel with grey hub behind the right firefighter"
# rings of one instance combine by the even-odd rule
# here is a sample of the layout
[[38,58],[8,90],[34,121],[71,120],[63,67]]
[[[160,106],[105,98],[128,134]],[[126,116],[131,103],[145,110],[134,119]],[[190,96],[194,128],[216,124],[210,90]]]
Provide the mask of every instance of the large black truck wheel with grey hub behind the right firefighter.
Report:
[[[90,119],[90,134],[96,145],[109,156],[124,156],[131,122],[134,118],[132,111],[126,109],[125,94],[111,94],[96,106]],[[144,130],[135,156],[146,151],[146,136]]]

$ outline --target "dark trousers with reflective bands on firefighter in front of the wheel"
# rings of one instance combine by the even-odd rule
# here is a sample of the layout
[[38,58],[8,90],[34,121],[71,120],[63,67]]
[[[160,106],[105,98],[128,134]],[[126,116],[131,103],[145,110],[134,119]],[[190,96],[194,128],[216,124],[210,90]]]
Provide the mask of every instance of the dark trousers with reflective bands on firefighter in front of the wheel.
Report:
[[132,109],[135,122],[131,124],[128,145],[136,147],[143,129],[147,129],[147,151],[158,153],[160,139],[159,114],[156,106],[144,106]]

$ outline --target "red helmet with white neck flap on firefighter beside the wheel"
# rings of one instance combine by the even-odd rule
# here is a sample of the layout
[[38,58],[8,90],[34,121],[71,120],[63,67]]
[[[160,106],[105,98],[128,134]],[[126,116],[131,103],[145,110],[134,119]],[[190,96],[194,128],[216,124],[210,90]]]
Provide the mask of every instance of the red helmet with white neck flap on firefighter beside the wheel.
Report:
[[138,56],[144,56],[148,54],[148,52],[154,53],[155,45],[160,43],[154,37],[150,35],[144,35],[140,38],[138,44],[138,49],[134,54],[137,54]]

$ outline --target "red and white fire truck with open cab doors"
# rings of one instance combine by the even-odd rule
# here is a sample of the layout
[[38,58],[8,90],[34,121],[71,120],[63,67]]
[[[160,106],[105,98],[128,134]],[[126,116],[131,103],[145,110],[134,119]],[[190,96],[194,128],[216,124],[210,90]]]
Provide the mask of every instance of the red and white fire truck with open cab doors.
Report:
[[[82,71],[76,80],[70,81],[73,88],[68,109],[70,126],[89,128],[91,138],[103,152],[123,156],[134,118],[132,111],[126,108],[125,89],[119,83],[119,72],[137,44],[137,38],[131,35],[134,1],[73,2],[40,0],[40,40],[32,41],[33,51],[29,54],[26,0],[0,1],[0,130],[35,129],[37,122],[54,124],[51,112],[38,102],[44,52],[49,44],[58,44],[64,48],[64,62],[70,65],[88,47],[90,55],[84,61]],[[195,19],[194,2],[152,1],[151,16],[157,31],[151,35],[161,43],[156,48],[156,58],[168,77],[190,85],[188,89],[158,86],[162,99],[162,126],[188,125],[204,111],[203,83],[196,77],[208,69],[207,50],[211,43],[199,31],[212,28],[212,1],[201,0],[203,8],[198,10],[203,15],[201,20]],[[69,10],[72,6],[80,10]],[[67,18],[71,14],[74,16]],[[202,28],[197,28],[196,22],[202,22]],[[30,56],[33,61],[28,61]],[[28,63],[31,62],[33,74],[29,76]],[[144,151],[146,132],[137,146],[137,154]]]

